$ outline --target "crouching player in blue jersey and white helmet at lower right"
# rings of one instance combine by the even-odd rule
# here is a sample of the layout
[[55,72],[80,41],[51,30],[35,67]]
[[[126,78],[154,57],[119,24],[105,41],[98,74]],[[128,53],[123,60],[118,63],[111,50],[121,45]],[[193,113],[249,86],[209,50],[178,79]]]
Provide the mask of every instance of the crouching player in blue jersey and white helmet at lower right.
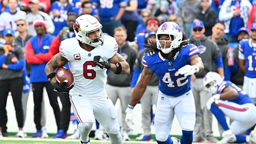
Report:
[[[213,93],[206,106],[225,130],[218,143],[256,143],[253,131],[250,136],[243,135],[256,124],[256,107],[246,92],[230,81],[223,81],[215,72],[207,73],[203,82]],[[230,127],[225,116],[234,120]]]

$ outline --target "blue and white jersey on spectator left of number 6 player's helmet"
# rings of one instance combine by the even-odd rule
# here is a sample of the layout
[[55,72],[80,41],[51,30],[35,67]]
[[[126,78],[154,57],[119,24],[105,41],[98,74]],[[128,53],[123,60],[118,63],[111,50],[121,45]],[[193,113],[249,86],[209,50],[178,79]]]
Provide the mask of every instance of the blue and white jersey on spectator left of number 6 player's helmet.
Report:
[[[58,10],[60,12],[60,16],[54,17],[53,10]],[[63,27],[67,26],[66,20],[68,19],[68,13],[74,12],[74,10],[75,10],[75,7],[73,3],[70,3],[69,5],[65,4],[64,6],[61,6],[59,1],[53,2],[49,15],[53,19],[53,24],[55,26],[55,30],[53,32],[54,35],[57,36],[60,30],[62,30]]]

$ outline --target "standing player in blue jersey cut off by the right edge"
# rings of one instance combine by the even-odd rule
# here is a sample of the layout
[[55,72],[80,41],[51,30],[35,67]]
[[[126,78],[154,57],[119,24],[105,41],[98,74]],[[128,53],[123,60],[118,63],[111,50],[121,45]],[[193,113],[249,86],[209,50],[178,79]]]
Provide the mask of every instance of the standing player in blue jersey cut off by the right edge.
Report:
[[239,68],[244,71],[243,90],[256,103],[256,22],[251,25],[251,38],[239,43]]

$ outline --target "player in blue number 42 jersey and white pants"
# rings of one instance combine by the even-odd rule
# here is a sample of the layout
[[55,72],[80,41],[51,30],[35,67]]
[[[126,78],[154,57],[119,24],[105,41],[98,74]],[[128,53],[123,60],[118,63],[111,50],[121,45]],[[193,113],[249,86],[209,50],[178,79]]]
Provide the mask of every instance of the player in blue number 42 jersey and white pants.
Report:
[[191,91],[191,75],[203,71],[199,50],[185,41],[186,37],[175,22],[163,23],[142,58],[144,69],[126,110],[127,125],[132,128],[132,110],[146,90],[154,73],[159,78],[158,105],[155,112],[155,136],[158,144],[177,144],[170,137],[174,114],[182,128],[181,144],[191,144],[196,122],[196,109]]

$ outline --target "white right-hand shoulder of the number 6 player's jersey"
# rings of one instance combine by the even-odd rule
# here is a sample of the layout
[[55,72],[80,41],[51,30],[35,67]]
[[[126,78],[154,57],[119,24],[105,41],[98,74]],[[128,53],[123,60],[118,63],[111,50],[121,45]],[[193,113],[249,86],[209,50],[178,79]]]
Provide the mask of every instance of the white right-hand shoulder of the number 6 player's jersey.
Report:
[[118,45],[117,41],[114,37],[104,35],[104,42],[103,42],[104,48],[108,50],[113,50],[113,52],[117,52]]

